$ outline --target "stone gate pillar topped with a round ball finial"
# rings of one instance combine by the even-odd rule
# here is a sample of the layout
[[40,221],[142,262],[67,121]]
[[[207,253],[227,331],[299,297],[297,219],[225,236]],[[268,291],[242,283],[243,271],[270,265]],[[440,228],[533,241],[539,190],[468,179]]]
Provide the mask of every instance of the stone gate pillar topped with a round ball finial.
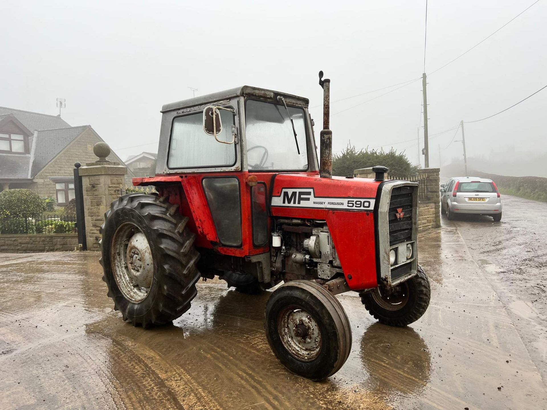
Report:
[[110,147],[106,142],[96,143],[93,152],[98,160],[80,167],[79,173],[82,177],[84,194],[85,236],[88,250],[100,250],[99,228],[104,222],[104,213],[110,208],[110,203],[120,196],[127,167],[106,159],[110,155]]

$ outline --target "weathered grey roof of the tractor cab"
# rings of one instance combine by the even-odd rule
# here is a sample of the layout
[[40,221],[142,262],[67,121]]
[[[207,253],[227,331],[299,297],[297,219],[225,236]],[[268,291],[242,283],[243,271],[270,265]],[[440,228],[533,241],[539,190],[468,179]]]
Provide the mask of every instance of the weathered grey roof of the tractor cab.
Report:
[[270,100],[277,103],[277,96],[283,96],[287,105],[294,106],[303,106],[307,107],[310,104],[310,100],[304,97],[295,96],[292,94],[287,94],[284,92],[266,90],[258,87],[251,87],[248,85],[243,85],[241,87],[232,88],[230,90],[213,92],[212,94],[197,96],[194,98],[183,99],[182,101],[177,101],[169,104],[165,104],[161,107],[161,112],[165,113],[166,111],[201,106],[214,101],[220,101],[223,99],[234,98],[234,97],[251,97],[262,100]]

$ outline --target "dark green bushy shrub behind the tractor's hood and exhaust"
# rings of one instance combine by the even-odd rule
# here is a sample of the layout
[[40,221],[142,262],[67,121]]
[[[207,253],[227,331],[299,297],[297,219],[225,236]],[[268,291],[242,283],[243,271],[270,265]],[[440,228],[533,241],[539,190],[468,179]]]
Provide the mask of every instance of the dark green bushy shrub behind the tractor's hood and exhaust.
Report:
[[404,152],[397,152],[393,148],[389,151],[369,150],[368,148],[357,150],[348,145],[341,154],[333,157],[333,175],[339,177],[352,177],[353,171],[360,168],[383,165],[389,168],[389,173],[398,177],[410,177],[416,175],[417,166],[410,163]]

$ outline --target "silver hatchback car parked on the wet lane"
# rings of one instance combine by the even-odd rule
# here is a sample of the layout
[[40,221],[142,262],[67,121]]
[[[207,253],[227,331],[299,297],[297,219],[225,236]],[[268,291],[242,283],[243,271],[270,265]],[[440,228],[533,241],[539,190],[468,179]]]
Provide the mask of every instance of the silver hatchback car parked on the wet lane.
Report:
[[489,215],[502,220],[502,198],[491,179],[455,177],[441,185],[441,213],[448,219],[455,214]]

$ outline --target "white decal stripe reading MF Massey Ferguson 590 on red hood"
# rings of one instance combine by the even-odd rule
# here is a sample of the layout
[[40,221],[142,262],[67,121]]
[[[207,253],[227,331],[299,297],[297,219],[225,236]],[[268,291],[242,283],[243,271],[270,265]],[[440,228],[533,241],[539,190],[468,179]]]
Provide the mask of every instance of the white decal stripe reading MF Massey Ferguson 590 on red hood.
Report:
[[374,198],[315,197],[311,188],[283,188],[271,200],[272,207],[373,210]]

